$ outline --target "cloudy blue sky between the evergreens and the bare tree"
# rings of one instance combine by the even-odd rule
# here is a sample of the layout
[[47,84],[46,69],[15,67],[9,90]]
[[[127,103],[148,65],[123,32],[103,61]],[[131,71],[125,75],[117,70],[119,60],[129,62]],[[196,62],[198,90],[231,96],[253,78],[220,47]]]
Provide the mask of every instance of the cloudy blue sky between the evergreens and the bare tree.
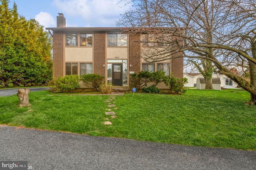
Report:
[[58,13],[64,14],[66,27],[115,27],[115,20],[130,8],[119,0],[10,0],[9,8],[14,1],[19,15],[46,28],[56,27]]

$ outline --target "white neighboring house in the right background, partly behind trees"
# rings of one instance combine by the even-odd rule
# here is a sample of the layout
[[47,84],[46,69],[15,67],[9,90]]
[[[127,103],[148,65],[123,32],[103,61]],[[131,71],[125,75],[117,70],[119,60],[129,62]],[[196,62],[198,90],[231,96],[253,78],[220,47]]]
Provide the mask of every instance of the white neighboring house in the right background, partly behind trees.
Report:
[[[230,69],[230,71],[238,75],[237,69]],[[198,78],[203,78],[201,73],[184,73],[183,77],[188,79],[188,83],[185,85],[186,87],[196,87],[196,80]],[[220,73],[212,74],[212,78],[220,78],[220,86],[223,88],[232,89],[237,88],[238,86],[236,82]]]

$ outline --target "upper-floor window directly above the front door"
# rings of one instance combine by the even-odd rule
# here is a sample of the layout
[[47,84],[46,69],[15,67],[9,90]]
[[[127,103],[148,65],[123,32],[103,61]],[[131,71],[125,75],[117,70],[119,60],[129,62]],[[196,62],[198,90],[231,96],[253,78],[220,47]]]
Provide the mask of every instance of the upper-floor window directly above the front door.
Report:
[[109,47],[126,47],[127,35],[126,34],[108,34]]

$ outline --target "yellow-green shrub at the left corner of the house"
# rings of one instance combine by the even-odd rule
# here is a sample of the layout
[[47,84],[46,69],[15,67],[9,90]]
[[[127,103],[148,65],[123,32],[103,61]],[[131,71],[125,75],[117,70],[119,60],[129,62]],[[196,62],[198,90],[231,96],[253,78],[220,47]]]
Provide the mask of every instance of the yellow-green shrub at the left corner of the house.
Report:
[[80,88],[79,82],[80,78],[78,75],[66,75],[65,77],[59,77],[54,81],[52,92],[64,93],[73,91]]

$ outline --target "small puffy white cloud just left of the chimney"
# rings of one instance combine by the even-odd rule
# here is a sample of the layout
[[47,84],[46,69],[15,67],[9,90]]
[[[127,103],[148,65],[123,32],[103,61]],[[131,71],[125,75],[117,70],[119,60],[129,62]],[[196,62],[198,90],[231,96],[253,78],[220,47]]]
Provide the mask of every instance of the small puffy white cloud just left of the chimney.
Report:
[[35,19],[45,28],[56,27],[56,21],[52,15],[47,12],[40,12],[35,16]]

